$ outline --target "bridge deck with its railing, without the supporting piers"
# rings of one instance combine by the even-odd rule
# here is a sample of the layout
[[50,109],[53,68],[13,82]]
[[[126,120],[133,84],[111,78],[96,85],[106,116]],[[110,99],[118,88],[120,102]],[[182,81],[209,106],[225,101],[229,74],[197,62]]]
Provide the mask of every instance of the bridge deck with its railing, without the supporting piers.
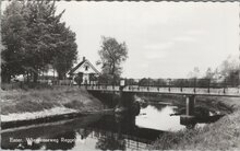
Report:
[[221,81],[209,79],[158,79],[158,80],[123,80],[116,84],[99,83],[88,84],[88,91],[101,92],[131,92],[131,93],[159,93],[181,95],[208,95],[240,97],[238,81]]

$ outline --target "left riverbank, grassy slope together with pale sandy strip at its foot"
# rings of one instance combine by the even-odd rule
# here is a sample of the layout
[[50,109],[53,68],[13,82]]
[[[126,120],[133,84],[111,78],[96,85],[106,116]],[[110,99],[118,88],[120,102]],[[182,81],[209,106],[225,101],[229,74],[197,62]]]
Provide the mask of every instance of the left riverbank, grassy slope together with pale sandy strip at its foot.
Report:
[[1,123],[97,113],[103,109],[99,100],[77,86],[1,90]]

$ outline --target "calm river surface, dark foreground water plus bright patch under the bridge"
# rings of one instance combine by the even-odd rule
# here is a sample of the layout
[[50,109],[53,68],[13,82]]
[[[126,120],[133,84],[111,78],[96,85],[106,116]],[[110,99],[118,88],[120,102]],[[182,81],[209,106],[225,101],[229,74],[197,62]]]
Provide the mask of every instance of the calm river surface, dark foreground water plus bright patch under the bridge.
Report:
[[[1,132],[1,148],[145,150],[164,132],[184,128],[180,116],[170,116],[177,113],[176,108],[169,105],[145,104],[137,116],[88,115],[52,124],[5,129]],[[13,139],[20,141],[13,142]]]

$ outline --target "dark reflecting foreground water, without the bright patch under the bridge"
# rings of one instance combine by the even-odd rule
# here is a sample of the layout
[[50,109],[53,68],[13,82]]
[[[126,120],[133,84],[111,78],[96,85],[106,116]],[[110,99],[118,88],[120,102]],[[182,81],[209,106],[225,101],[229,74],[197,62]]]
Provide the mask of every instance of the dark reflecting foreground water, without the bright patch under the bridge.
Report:
[[[140,128],[130,115],[89,115],[77,119],[5,129],[2,149],[125,150],[146,149],[163,131]],[[10,139],[19,139],[12,142]]]

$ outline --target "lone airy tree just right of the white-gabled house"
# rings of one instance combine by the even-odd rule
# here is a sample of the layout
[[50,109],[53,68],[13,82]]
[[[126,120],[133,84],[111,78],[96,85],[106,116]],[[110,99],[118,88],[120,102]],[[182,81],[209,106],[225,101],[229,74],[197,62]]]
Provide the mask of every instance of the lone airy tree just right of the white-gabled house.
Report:
[[101,65],[103,77],[107,78],[115,84],[120,79],[122,67],[121,63],[128,58],[128,47],[125,43],[118,43],[113,37],[101,37],[103,44],[98,51]]

